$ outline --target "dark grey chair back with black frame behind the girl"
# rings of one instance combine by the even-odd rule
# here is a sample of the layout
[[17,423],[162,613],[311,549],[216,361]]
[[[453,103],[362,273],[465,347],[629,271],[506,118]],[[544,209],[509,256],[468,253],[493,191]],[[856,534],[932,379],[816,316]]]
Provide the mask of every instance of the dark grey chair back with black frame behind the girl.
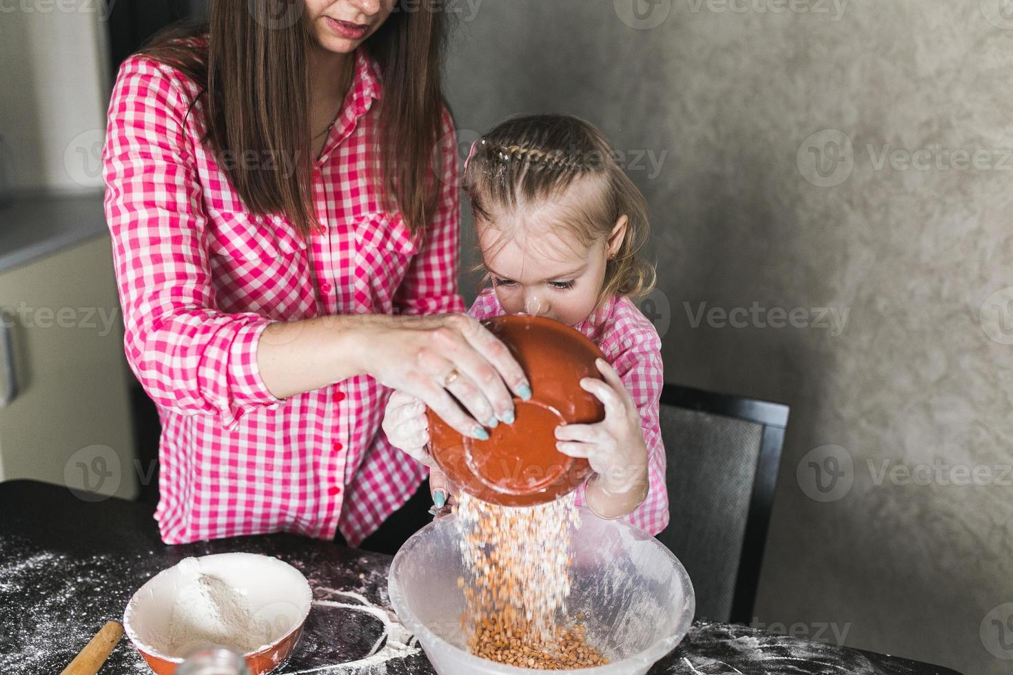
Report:
[[657,538],[696,591],[697,617],[750,623],[788,407],[666,385],[670,522]]

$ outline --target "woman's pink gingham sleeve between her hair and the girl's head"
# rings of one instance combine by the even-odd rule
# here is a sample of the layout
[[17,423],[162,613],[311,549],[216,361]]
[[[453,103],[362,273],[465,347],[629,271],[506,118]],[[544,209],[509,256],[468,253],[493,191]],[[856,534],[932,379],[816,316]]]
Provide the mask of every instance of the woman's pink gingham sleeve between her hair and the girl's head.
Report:
[[461,167],[454,119],[445,108],[440,136],[439,201],[425,238],[394,296],[398,314],[464,312],[458,294],[458,246],[461,238]]

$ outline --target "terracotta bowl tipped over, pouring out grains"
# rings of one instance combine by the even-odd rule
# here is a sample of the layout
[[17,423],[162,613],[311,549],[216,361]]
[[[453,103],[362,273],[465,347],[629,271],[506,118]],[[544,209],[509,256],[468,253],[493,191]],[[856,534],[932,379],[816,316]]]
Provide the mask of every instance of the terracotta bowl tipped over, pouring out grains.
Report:
[[432,410],[430,451],[454,484],[500,506],[551,502],[577,488],[592,474],[587,459],[556,449],[560,424],[605,419],[605,408],[580,389],[597,377],[602,351],[577,330],[545,317],[509,315],[482,322],[513,352],[531,382],[532,398],[515,398],[517,419],[489,430],[488,440],[462,436]]

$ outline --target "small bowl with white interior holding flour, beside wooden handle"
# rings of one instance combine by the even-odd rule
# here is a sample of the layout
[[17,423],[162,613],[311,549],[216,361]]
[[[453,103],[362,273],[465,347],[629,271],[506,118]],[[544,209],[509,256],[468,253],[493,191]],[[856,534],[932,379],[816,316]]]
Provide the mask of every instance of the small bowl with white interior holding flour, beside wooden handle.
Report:
[[124,629],[153,671],[172,675],[183,661],[185,655],[170,653],[169,621],[197,574],[213,576],[245,597],[252,612],[250,631],[263,639],[262,645],[243,654],[252,675],[269,673],[289,658],[313,600],[306,577],[269,556],[217,554],[187,558],[159,572],[127,605]]

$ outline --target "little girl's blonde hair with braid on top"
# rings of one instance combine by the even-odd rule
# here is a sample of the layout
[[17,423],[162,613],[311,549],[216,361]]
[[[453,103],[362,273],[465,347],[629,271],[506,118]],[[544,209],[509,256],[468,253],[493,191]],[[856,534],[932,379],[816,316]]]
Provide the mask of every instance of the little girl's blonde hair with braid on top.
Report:
[[566,219],[585,244],[607,239],[626,216],[626,234],[608,261],[599,303],[613,294],[645,296],[654,286],[654,266],[639,255],[650,235],[647,200],[619,165],[608,140],[571,115],[512,117],[475,142],[465,167],[464,189],[475,219],[492,222],[497,209],[539,203],[591,179],[595,196]]

